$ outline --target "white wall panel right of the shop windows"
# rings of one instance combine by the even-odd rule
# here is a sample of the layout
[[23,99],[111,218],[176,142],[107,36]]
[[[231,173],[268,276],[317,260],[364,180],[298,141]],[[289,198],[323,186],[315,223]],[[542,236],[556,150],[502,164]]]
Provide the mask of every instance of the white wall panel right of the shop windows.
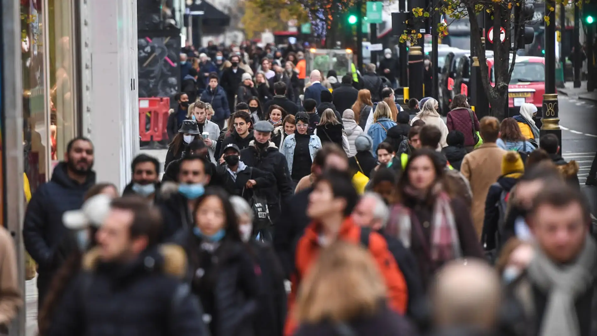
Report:
[[81,1],[81,40],[90,46],[87,59],[82,53],[89,70],[82,83],[90,88],[83,99],[83,134],[96,147],[97,180],[122,190],[139,152],[136,0]]

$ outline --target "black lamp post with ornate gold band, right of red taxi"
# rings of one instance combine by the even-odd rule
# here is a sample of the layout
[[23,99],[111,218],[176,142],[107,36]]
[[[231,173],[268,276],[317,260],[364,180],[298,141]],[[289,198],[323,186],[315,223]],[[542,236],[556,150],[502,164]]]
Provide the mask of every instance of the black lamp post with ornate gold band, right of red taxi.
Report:
[[[560,149],[562,148],[562,130],[559,128],[559,107],[558,94],[556,93],[556,16],[555,11],[549,8],[555,7],[555,0],[545,1],[545,13],[549,16],[549,24],[545,25],[545,94],[543,94],[543,105],[541,106],[541,130],[540,135],[555,134],[559,139]],[[536,139],[537,140],[537,139]]]

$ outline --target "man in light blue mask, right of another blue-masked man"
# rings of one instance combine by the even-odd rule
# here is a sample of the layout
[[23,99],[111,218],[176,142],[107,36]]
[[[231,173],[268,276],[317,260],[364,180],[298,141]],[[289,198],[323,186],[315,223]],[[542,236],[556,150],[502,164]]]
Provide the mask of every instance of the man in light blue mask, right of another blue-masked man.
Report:
[[177,232],[193,226],[191,211],[196,199],[203,195],[211,181],[213,164],[205,156],[189,155],[180,159],[177,183],[162,183],[156,205],[162,212],[164,225],[161,241],[171,239]]

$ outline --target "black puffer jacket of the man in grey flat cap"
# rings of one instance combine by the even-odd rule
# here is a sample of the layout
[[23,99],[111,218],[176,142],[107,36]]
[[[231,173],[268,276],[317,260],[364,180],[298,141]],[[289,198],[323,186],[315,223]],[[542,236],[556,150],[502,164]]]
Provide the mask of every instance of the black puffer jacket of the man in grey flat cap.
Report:
[[261,189],[261,193],[267,198],[271,220],[277,220],[280,213],[280,200],[294,194],[286,158],[271,141],[269,147],[264,150],[257,149],[255,141],[251,141],[249,147],[241,150],[241,161],[249,167],[273,173],[276,179],[275,186]]

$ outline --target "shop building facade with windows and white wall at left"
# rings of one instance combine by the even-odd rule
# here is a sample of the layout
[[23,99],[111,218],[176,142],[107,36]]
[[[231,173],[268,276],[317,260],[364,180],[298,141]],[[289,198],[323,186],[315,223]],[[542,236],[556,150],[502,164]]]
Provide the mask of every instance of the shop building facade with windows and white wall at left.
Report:
[[[0,223],[22,267],[24,195],[50,180],[70,139],[93,141],[98,181],[122,190],[130,180],[139,150],[137,1],[0,1]],[[10,331],[24,335],[24,312]]]

